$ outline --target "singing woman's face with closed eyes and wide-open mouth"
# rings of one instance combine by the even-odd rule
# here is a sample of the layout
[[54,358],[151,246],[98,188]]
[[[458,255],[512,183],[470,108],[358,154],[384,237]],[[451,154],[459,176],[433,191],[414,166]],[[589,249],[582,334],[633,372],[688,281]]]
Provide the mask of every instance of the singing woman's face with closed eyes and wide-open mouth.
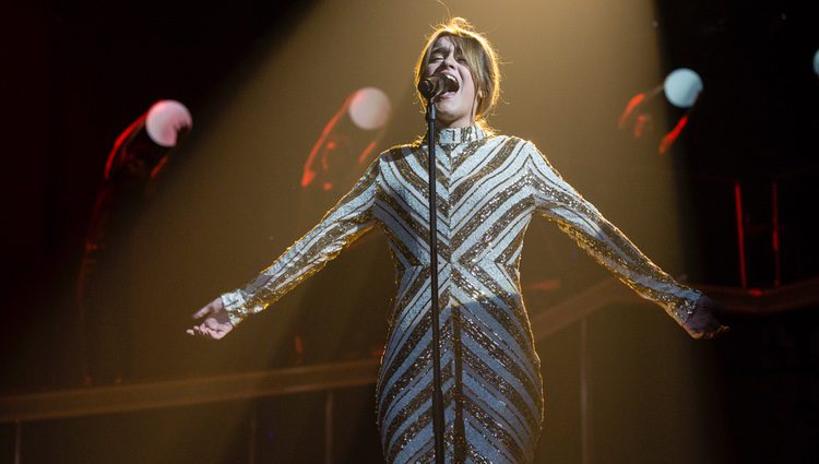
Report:
[[460,84],[458,92],[441,94],[435,108],[440,126],[444,128],[463,128],[475,122],[475,83],[472,80],[466,60],[455,50],[448,36],[438,37],[429,53],[429,64],[424,75],[449,74]]

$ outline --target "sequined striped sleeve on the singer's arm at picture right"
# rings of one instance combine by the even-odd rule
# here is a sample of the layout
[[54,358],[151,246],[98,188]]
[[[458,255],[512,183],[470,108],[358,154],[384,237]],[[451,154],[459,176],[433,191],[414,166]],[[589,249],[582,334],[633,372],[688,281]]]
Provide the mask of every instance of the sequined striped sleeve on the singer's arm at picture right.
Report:
[[691,336],[701,336],[687,321],[702,294],[677,283],[651,262],[560,177],[534,144],[527,143],[525,150],[529,156],[526,175],[536,212],[555,221],[560,229],[638,295],[663,307]]

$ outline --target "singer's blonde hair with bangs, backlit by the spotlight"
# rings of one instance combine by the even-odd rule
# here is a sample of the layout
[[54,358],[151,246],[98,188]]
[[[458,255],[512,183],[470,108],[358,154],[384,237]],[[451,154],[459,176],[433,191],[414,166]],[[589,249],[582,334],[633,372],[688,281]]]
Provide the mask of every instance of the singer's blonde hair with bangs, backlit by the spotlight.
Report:
[[[424,79],[424,73],[429,64],[429,56],[432,45],[440,37],[450,37],[455,52],[465,60],[475,82],[475,94],[477,108],[475,109],[475,122],[483,129],[490,131],[486,123],[486,116],[495,107],[500,97],[500,68],[498,67],[498,55],[489,40],[475,31],[468,21],[463,17],[453,17],[447,24],[438,25],[427,39],[424,51],[415,64],[415,86]],[[426,104],[424,97],[418,93],[422,106]]]

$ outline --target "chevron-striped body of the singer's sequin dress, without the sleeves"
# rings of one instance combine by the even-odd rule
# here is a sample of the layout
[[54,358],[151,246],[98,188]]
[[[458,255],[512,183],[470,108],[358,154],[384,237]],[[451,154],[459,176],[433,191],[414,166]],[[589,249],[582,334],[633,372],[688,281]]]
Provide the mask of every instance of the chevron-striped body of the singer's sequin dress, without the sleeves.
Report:
[[[518,283],[534,211],[521,175],[524,143],[448,142],[436,150],[448,459],[531,461],[543,394]],[[381,172],[377,216],[401,272],[378,382],[378,423],[388,462],[426,462],[434,447],[426,145],[392,150]]]

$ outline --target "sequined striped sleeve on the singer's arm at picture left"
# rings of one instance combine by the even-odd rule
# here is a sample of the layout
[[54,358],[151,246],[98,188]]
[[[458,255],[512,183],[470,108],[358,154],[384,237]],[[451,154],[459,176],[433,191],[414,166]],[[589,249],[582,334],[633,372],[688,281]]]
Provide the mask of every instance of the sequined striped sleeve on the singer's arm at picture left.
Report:
[[372,228],[378,163],[376,159],[364,177],[321,222],[290,246],[270,267],[246,287],[222,295],[222,302],[234,325],[275,302]]

